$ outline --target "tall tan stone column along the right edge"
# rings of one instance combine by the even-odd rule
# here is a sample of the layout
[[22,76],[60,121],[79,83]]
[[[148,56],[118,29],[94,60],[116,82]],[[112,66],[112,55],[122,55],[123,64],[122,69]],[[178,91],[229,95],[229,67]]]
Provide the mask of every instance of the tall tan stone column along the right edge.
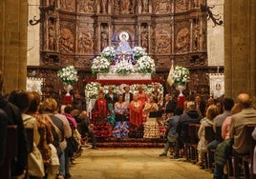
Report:
[[247,92],[255,99],[256,1],[224,2],[224,90],[235,98]]

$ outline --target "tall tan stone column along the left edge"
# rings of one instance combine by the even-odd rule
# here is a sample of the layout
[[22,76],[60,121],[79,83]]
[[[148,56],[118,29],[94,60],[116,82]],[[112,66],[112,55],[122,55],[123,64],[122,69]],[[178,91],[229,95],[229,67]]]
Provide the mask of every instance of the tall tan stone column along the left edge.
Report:
[[27,79],[27,0],[0,3],[0,70],[4,73],[4,92],[26,89]]

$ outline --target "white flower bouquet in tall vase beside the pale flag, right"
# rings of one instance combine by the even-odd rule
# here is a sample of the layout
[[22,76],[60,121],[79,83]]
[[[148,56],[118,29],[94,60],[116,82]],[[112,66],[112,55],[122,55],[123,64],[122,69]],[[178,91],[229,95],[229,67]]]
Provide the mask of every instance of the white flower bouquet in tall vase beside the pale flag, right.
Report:
[[173,80],[176,85],[185,85],[187,82],[189,82],[189,70],[176,66],[173,72]]

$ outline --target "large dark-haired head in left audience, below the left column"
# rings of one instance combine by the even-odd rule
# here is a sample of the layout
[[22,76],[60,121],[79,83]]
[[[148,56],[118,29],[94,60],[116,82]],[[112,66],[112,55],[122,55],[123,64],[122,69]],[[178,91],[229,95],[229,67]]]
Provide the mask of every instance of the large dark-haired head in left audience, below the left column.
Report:
[[18,107],[22,113],[30,107],[31,103],[29,93],[24,90],[12,90],[8,101]]

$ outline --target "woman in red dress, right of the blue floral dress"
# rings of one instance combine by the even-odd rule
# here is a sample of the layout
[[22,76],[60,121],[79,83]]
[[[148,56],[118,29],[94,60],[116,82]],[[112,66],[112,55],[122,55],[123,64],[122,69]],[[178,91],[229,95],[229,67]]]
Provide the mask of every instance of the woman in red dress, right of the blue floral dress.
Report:
[[139,100],[139,94],[134,94],[134,100],[130,103],[130,123],[139,127],[143,122],[143,104]]

